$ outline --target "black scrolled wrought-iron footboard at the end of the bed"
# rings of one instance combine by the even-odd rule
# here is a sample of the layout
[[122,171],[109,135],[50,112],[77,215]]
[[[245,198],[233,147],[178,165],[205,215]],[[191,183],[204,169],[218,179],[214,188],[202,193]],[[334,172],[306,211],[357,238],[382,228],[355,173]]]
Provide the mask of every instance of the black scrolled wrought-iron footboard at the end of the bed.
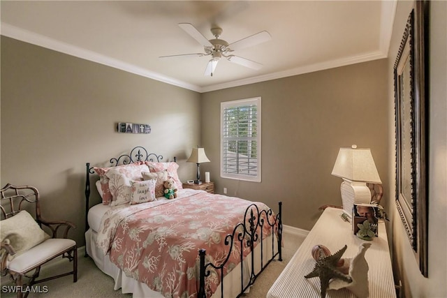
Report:
[[[254,284],[256,281],[256,278],[261,274],[262,271],[276,258],[278,255],[278,260],[282,261],[281,256],[281,243],[282,243],[282,221],[281,221],[281,208],[282,208],[282,202],[278,203],[279,205],[279,211],[276,214],[276,216],[273,216],[272,209],[268,209],[268,211],[261,210],[259,211],[258,206],[256,204],[251,204],[247,209],[245,210],[244,214],[244,221],[242,223],[239,223],[235,226],[233,229],[232,234],[228,234],[225,238],[225,245],[229,246],[229,251],[226,256],[226,260],[221,265],[214,265],[211,262],[205,262],[205,255],[206,250],[200,249],[199,256],[200,256],[200,280],[199,280],[199,291],[198,291],[198,297],[199,298],[206,298],[206,291],[205,291],[205,278],[207,276],[210,276],[211,269],[219,270],[220,276],[221,276],[221,297],[223,297],[223,267],[225,267],[226,262],[228,261],[228,258],[230,257],[230,254],[233,251],[233,245],[240,245],[240,288],[241,291],[237,297],[240,297],[244,292]],[[263,217],[265,216],[265,218]],[[270,222],[272,221],[272,222]],[[248,223],[248,227],[247,227]],[[264,265],[264,244],[263,244],[263,229],[267,226],[272,227],[272,257],[267,260],[267,262]],[[274,249],[274,237],[273,235],[277,236],[277,251],[275,252]],[[261,239],[260,239],[261,238]],[[259,241],[259,244],[261,246],[261,254],[258,256],[261,260],[261,269],[259,269],[258,272],[255,272],[255,253],[254,253],[254,244],[256,241]],[[244,268],[242,266],[243,261],[243,254],[242,254],[242,248],[246,244],[250,248],[250,265],[251,270],[249,273],[249,282],[247,285],[244,285]]]

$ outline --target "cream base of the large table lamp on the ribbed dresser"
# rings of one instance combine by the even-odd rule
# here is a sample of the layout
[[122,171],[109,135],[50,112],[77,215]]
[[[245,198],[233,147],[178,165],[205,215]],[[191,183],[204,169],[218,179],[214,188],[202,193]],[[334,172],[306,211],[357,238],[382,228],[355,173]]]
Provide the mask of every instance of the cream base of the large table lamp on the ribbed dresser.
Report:
[[354,203],[369,204],[371,202],[371,191],[365,182],[343,179],[340,186],[342,193],[343,211],[352,216]]

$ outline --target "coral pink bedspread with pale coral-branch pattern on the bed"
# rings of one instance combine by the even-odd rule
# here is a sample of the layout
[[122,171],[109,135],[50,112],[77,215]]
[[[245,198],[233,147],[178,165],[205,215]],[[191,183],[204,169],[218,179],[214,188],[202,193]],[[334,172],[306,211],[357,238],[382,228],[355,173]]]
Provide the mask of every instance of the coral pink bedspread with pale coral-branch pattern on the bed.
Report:
[[[221,264],[229,251],[226,235],[244,220],[245,210],[253,203],[259,211],[269,209],[261,202],[190,189],[174,200],[114,207],[103,216],[97,244],[126,276],[165,297],[196,297],[198,250],[206,249],[207,262]],[[262,238],[270,233],[270,225],[264,225]],[[242,251],[244,257],[250,253],[249,247]],[[223,274],[239,262],[240,242],[235,241]],[[207,297],[219,283],[220,271],[206,278]]]

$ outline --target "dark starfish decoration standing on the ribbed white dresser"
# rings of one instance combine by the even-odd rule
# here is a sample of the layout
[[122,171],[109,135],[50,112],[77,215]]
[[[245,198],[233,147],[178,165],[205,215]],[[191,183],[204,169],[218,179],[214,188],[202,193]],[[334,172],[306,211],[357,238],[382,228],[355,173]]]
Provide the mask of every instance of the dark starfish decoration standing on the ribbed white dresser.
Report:
[[320,253],[318,260],[316,260],[314,269],[312,270],[312,272],[305,276],[305,278],[316,276],[320,278],[321,298],[326,297],[326,289],[328,288],[331,278],[340,278],[343,281],[351,283],[351,277],[342,274],[342,272],[337,269],[337,262],[340,260],[340,258],[342,258],[342,255],[344,251],[346,251],[346,248],[348,248],[348,246],[345,245],[342,249],[337,251],[337,253],[328,256]]

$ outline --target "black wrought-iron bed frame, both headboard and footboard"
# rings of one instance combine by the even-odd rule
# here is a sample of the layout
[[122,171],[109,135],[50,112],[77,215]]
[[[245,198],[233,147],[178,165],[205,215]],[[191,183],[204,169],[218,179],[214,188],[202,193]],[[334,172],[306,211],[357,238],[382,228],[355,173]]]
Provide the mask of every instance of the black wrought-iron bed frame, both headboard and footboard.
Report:
[[[154,153],[148,153],[147,149],[144,147],[134,147],[131,149],[129,154],[122,154],[117,158],[110,158],[110,167],[117,165],[126,165],[130,163],[138,163],[141,161],[156,161],[161,162],[163,160],[163,156],[157,155]],[[176,158],[174,158],[176,161]],[[90,163],[86,163],[86,179],[85,179],[85,231],[89,230],[89,223],[87,221],[87,214],[90,209],[90,174],[94,174],[93,167],[90,167]],[[199,290],[198,297],[206,298],[206,290],[205,290],[205,278],[210,276],[211,270],[220,270],[221,273],[221,297],[223,297],[223,268],[226,265],[226,262],[230,258],[230,254],[233,251],[233,243],[235,245],[240,245],[240,250],[242,251],[242,247],[246,244],[250,248],[251,258],[249,260],[251,265],[251,272],[249,274],[249,281],[247,285],[244,285],[244,271],[242,267],[243,254],[240,254],[240,274],[241,274],[241,291],[237,297],[240,297],[244,294],[244,292],[254,284],[256,278],[261,274],[262,271],[274,260],[278,257],[279,261],[282,261],[281,254],[281,244],[282,244],[282,221],[281,221],[281,209],[282,202],[278,202],[279,211],[277,214],[273,216],[272,209],[267,211],[259,210],[256,204],[250,204],[249,207],[245,210],[244,213],[244,221],[242,223],[238,223],[233,229],[232,234],[227,234],[224,244],[229,246],[228,254],[226,255],[225,261],[221,265],[214,265],[212,262],[205,261],[206,250],[201,248],[198,251],[198,255],[200,258],[200,267],[199,267]],[[266,220],[264,219],[266,218]],[[247,224],[248,223],[248,224]],[[248,225],[248,226],[247,226]],[[264,227],[272,227],[272,234],[277,235],[277,249],[274,248],[274,237],[272,237],[272,256],[268,258],[268,260],[264,264],[264,244],[262,239],[259,239],[260,234],[263,234]],[[261,237],[262,238],[262,237]],[[254,263],[255,263],[255,255],[254,255],[254,245],[257,241],[260,241],[258,245],[261,246],[261,268],[258,272],[254,271]],[[85,252],[85,257],[88,257],[87,251]]]

